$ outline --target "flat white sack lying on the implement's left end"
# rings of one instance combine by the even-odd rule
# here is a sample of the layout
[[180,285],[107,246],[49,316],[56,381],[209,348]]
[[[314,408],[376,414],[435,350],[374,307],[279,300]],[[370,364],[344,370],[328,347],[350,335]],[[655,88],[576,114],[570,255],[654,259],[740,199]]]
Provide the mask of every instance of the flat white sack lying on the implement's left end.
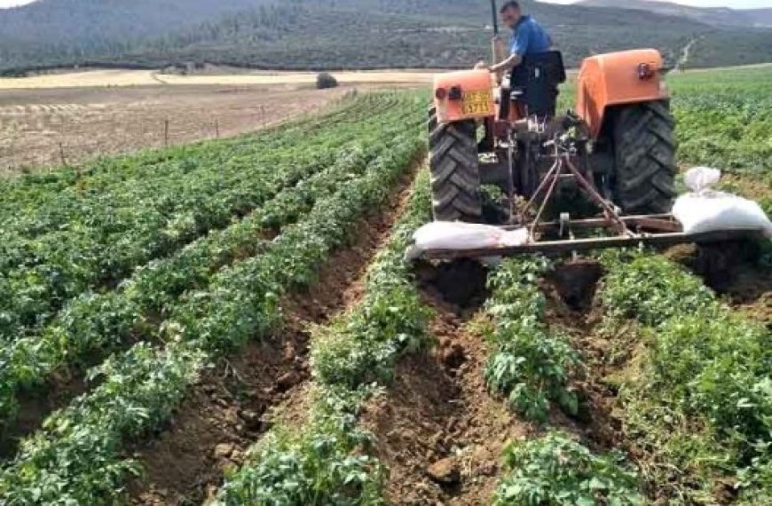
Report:
[[498,226],[436,221],[421,226],[413,234],[414,245],[407,250],[407,260],[414,260],[429,250],[482,249],[520,246],[528,241],[525,228],[503,230]]

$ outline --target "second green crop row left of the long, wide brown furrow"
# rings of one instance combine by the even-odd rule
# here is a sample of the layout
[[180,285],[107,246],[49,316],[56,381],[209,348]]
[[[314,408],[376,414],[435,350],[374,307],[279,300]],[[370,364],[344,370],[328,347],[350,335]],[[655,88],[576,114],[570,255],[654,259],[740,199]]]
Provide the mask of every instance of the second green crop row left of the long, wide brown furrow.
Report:
[[139,268],[115,291],[76,297],[40,334],[8,344],[0,350],[0,415],[11,416],[16,393],[43,383],[54,371],[77,368],[87,357],[93,360],[130,339],[157,334],[150,321],[164,320],[181,294],[205,288],[219,268],[264,249],[268,235],[360,176],[369,162],[394,146],[402,130],[404,124],[365,130],[336,154],[337,162],[239,222]]

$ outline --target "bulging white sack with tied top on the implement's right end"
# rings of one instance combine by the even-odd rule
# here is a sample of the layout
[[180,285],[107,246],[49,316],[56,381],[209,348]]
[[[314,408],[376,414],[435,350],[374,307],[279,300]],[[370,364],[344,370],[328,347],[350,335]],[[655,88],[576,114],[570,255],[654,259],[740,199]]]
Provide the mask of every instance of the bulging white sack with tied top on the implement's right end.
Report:
[[760,230],[772,238],[772,222],[758,203],[710,189],[721,178],[720,170],[697,167],[684,178],[694,192],[675,201],[673,215],[685,233]]

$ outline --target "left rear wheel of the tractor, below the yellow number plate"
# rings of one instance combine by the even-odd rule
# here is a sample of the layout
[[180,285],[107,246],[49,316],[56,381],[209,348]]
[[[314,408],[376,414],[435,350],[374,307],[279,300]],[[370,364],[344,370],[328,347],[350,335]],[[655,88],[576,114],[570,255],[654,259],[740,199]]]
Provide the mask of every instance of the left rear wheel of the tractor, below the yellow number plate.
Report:
[[429,109],[431,204],[437,221],[479,222],[483,214],[477,123],[440,124]]

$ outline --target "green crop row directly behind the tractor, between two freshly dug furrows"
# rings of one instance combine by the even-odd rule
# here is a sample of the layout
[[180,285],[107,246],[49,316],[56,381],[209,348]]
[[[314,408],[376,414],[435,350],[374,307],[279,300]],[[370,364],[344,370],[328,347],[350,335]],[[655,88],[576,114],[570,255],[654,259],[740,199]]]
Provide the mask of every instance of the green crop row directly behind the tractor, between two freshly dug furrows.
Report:
[[[552,265],[543,257],[505,261],[492,273],[485,306],[492,355],[485,377],[493,393],[524,418],[547,423],[551,403],[577,415],[571,380],[583,368],[568,336],[547,326],[538,281]],[[562,431],[505,448],[496,505],[643,503],[638,477],[622,455],[594,455]]]

